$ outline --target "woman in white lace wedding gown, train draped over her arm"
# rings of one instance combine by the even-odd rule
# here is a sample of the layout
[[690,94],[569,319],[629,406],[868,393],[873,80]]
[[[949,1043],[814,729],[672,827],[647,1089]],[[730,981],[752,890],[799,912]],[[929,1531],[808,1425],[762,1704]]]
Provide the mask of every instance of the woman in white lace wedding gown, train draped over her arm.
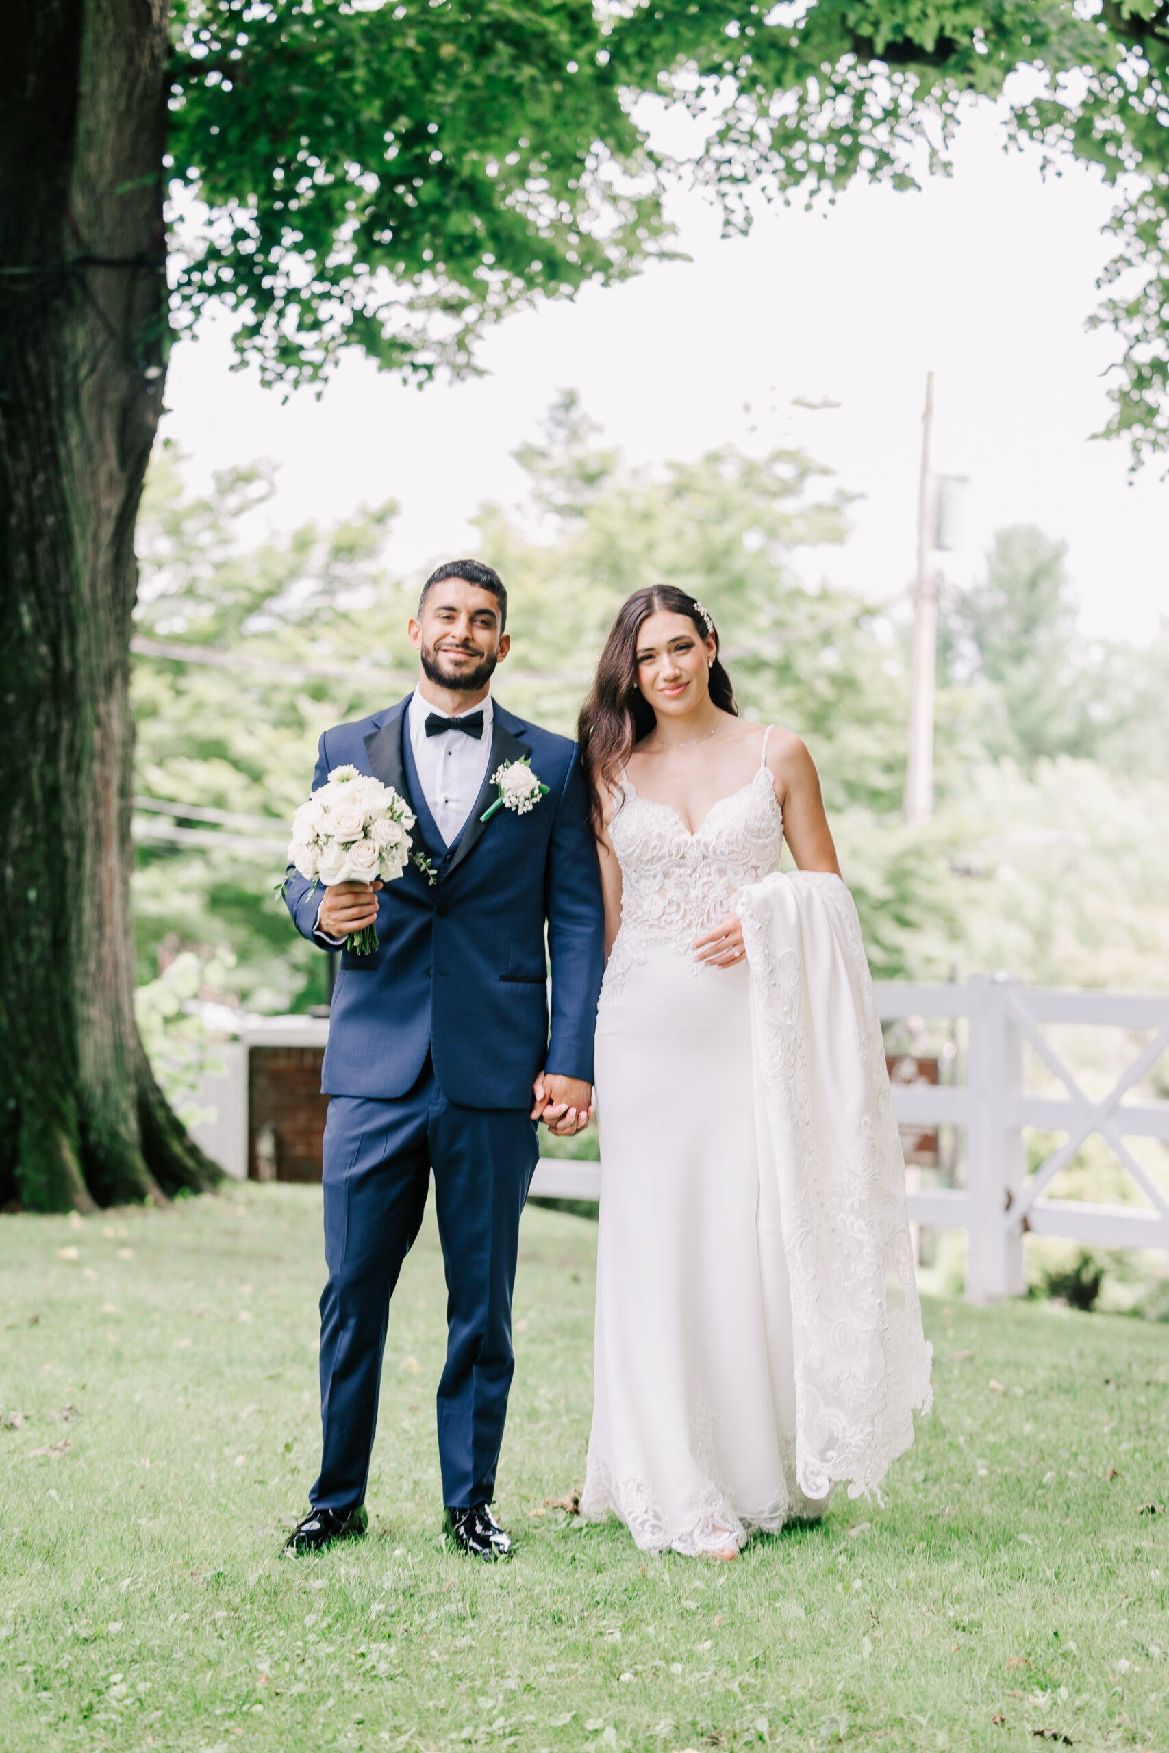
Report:
[[578,736],[606,926],[580,1509],[733,1558],[876,1488],[929,1408],[880,1026],[811,756],[736,715],[699,601],[627,600]]

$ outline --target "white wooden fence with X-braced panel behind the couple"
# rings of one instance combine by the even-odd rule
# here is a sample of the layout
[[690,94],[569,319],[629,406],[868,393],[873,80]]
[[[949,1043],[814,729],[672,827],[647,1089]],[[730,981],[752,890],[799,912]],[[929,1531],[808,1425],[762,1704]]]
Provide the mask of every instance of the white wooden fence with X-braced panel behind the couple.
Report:
[[[892,1096],[903,1125],[953,1125],[964,1131],[966,1185],[910,1185],[908,1204],[915,1224],[967,1232],[969,1301],[990,1302],[1025,1292],[1025,1231],[1104,1248],[1169,1250],[1169,1196],[1129,1146],[1130,1138],[1155,1138],[1169,1146],[1169,1101],[1125,1099],[1169,1047],[1169,994],[1064,992],[1027,987],[1008,975],[973,975],[966,985],[883,982],[876,985],[876,1004],[883,1022],[966,1018],[966,1083],[894,1083]],[[1150,1040],[1108,1096],[1097,1101],[1048,1041],[1045,1024],[1148,1033]],[[195,1129],[203,1148],[228,1173],[247,1173],[249,1048],[315,1047],[326,1036],[328,1022],[289,1017],[249,1029],[228,1048],[228,1075],[207,1080],[203,1090],[203,1101],[217,1108],[217,1118]],[[1025,1090],[1024,1041],[1062,1085],[1059,1096]],[[1067,1134],[1032,1173],[1027,1171],[1027,1129]],[[1094,1132],[1148,1204],[1108,1206],[1045,1197],[1045,1189]],[[543,1159],[531,1190],[556,1199],[598,1199],[599,1182],[596,1162]]]

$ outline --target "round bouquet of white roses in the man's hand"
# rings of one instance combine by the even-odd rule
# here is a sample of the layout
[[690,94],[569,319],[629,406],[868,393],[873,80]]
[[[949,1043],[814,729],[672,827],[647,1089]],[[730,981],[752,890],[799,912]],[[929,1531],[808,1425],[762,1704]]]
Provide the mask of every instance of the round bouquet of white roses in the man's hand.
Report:
[[[331,889],[338,882],[394,882],[407,864],[417,864],[433,884],[429,859],[412,850],[414,822],[414,810],[393,785],[382,785],[356,766],[333,768],[328,782],[293,815],[289,864],[312,878],[314,889],[317,884]],[[351,933],[349,943],[356,955],[372,955],[377,926]]]

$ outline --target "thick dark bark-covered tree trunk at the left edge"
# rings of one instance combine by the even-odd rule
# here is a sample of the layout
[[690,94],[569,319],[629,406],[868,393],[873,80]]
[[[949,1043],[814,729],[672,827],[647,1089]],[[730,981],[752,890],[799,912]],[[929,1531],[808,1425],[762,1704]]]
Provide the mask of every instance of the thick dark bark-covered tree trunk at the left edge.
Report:
[[166,354],[168,0],[9,0],[0,65],[0,1203],[209,1187],[133,1018],[133,526]]

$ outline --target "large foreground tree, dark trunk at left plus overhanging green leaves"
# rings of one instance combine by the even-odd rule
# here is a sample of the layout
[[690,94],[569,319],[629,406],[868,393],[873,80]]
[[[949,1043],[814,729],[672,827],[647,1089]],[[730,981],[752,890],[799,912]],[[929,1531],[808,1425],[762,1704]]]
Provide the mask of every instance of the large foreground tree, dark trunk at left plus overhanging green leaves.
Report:
[[[945,163],[960,100],[1018,67],[1015,130],[1132,174],[1106,309],[1115,424],[1165,435],[1167,53],[1151,0],[803,12],[731,0],[12,0],[0,63],[0,1182],[28,1206],[202,1187],[133,1018],[133,524],[166,351],[212,302],[272,382],[345,345],[419,379],[484,326],[661,252],[640,93],[712,114],[694,172],[829,195]],[[1078,86],[1060,86],[1074,74]],[[170,186],[181,244],[168,261]],[[168,293],[168,272],[172,289]]]

